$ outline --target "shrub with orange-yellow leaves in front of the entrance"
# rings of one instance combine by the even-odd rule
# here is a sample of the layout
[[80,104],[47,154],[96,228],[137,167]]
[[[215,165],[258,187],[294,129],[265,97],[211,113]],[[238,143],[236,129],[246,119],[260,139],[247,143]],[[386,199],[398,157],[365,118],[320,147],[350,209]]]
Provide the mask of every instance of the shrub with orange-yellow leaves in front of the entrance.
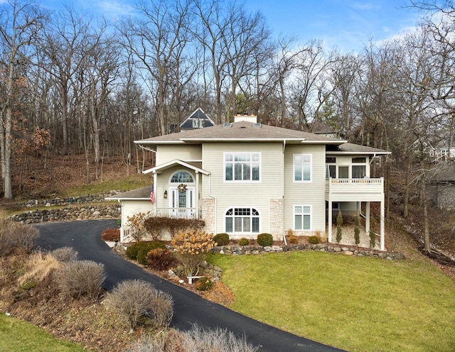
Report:
[[201,230],[178,231],[171,241],[187,276],[198,275],[205,253],[213,248],[213,234]]

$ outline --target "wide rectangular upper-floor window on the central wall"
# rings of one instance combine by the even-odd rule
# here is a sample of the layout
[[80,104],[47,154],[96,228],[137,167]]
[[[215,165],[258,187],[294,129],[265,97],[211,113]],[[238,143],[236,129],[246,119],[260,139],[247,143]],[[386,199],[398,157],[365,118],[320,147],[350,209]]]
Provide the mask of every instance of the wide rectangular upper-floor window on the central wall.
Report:
[[259,181],[261,153],[225,153],[225,181]]

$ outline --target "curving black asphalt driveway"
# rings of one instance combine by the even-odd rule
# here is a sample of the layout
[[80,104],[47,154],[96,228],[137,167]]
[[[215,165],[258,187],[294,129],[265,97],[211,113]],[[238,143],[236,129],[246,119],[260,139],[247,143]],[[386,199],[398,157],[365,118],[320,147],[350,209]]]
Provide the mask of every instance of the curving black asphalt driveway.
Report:
[[116,224],[115,220],[39,224],[36,226],[40,231],[36,247],[45,250],[65,246],[73,247],[79,253],[79,259],[94,260],[104,264],[107,272],[105,281],[107,290],[111,290],[117,282],[122,280],[142,279],[151,282],[157,289],[172,295],[174,314],[171,326],[176,329],[188,330],[193,324],[210,329],[216,327],[228,329],[238,336],[247,336],[247,341],[259,346],[259,351],[341,351],[262,324],[220,304],[209,302],[161,277],[146,273],[137,265],[129,263],[113,253],[109,246],[102,241],[102,231],[113,228]]

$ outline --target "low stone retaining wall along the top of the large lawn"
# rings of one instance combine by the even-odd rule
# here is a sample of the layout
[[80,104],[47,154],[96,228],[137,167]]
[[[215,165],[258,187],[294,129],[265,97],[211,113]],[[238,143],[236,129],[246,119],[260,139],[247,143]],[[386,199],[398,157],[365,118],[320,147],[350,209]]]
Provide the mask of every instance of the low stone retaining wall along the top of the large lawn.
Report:
[[400,252],[382,252],[370,248],[358,248],[352,246],[338,246],[336,244],[318,243],[318,244],[289,244],[289,246],[222,246],[215,247],[213,251],[225,255],[255,255],[262,253],[276,253],[287,251],[319,251],[326,253],[336,253],[343,255],[357,255],[359,257],[382,258],[389,260],[404,259]]

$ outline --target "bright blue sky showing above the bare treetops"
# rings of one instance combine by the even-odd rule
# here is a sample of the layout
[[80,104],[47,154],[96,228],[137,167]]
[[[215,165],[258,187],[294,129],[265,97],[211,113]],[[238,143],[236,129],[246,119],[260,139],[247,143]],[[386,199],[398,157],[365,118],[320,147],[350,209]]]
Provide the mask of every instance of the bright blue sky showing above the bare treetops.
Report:
[[[39,2],[50,9],[58,9],[62,3]],[[134,0],[73,2],[107,18],[134,11]],[[407,5],[409,0],[245,0],[247,10],[264,13],[274,36],[294,33],[299,43],[323,40],[327,48],[337,47],[343,52],[358,52],[370,39],[380,41],[410,31],[421,13],[405,8]]]

